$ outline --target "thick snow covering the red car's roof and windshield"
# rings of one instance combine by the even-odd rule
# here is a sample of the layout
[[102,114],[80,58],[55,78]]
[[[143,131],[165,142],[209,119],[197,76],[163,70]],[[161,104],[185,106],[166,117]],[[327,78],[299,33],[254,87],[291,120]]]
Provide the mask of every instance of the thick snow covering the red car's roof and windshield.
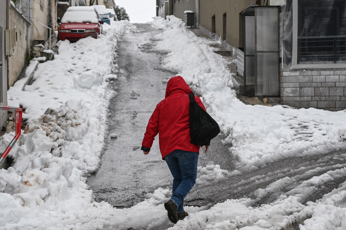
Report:
[[99,19],[95,11],[66,11],[61,23],[98,23]]

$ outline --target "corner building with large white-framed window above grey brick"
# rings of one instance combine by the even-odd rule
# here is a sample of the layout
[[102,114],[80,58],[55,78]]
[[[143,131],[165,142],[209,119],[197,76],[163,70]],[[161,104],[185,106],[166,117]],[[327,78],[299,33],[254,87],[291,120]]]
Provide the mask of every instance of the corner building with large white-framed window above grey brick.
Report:
[[287,0],[281,20],[281,103],[346,109],[346,2]]

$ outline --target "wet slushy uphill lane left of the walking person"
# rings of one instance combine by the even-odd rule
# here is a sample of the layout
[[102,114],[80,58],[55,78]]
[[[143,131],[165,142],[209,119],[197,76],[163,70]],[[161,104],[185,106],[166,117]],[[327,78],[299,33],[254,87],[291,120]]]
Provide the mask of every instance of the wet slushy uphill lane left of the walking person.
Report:
[[171,181],[158,141],[154,141],[148,155],[140,146],[147,122],[164,98],[164,80],[174,74],[160,70],[160,55],[148,52],[144,46],[161,31],[146,24],[137,26],[138,29],[132,26],[135,31],[125,32],[118,45],[119,73],[113,83],[118,96],[110,102],[108,117],[109,134],[118,137],[107,137],[102,165],[88,178],[95,200],[107,201],[117,208],[129,208],[141,201],[144,189]]

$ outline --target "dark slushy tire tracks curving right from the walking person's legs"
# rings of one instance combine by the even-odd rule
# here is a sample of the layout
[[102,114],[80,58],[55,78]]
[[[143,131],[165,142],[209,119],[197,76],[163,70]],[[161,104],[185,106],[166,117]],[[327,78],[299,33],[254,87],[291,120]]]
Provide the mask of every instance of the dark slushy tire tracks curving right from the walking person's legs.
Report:
[[[227,199],[240,199],[242,197],[254,199],[256,201],[254,206],[273,202],[285,192],[293,190],[314,176],[345,167],[346,159],[343,157],[345,155],[343,154],[344,152],[342,150],[314,157],[287,158],[255,171],[228,177],[226,181],[218,184],[196,188],[186,197],[185,203],[186,205],[206,206],[207,208]],[[289,177],[291,182],[286,180],[279,186],[280,180],[286,177]],[[340,181],[341,183],[343,182],[342,180]],[[276,185],[276,188],[270,188],[270,185],[275,186],[275,183],[279,185]],[[330,192],[338,185],[338,183],[329,183],[325,186],[324,191]],[[267,189],[269,192],[262,194],[261,197],[259,191],[261,189]],[[315,201],[324,194],[311,194],[309,199],[302,202]]]

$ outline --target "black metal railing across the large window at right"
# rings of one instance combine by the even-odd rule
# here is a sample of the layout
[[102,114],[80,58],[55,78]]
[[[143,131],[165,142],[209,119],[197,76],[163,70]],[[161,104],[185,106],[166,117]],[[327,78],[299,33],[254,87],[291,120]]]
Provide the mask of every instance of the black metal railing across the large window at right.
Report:
[[346,36],[298,37],[298,62],[346,62]]

